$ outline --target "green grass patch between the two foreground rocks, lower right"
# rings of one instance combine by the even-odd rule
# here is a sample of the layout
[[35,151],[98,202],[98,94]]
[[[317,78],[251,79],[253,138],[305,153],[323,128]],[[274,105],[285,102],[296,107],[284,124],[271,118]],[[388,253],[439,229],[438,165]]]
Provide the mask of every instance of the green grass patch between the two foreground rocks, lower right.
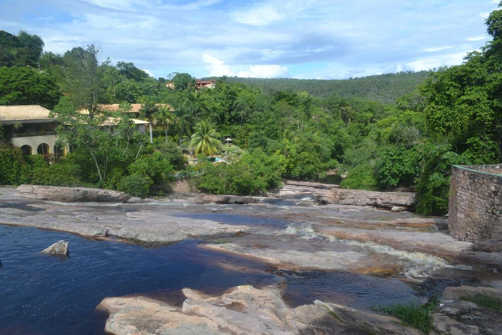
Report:
[[405,326],[410,326],[428,334],[432,329],[432,318],[429,315],[439,303],[439,297],[434,296],[430,301],[419,303],[394,304],[390,306],[372,307],[376,312],[397,317]]

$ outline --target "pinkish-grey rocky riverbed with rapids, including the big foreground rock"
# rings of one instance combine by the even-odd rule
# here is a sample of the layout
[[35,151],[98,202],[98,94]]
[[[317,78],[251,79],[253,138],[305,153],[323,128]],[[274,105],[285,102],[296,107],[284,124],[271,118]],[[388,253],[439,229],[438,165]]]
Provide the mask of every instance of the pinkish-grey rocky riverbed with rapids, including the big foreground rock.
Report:
[[[200,203],[195,198],[103,204],[42,201],[15,193],[15,189],[0,188],[0,224],[148,245],[200,239],[203,242],[197,248],[201,253],[207,250],[248,258],[266,265],[267,271],[369,274],[411,285],[422,292],[424,300],[446,286],[502,287],[498,274],[502,253],[474,251],[472,243],[449,237],[444,218],[420,217],[409,211],[318,205],[310,198],[265,198],[248,204]],[[233,262],[217,264],[250,271]],[[237,287],[212,297],[188,287],[183,294],[182,307],[161,303],[155,297],[105,299],[100,306],[110,313],[107,330],[117,334],[148,329],[153,333],[187,333],[188,326],[193,333],[260,333],[263,329],[271,329],[269,333],[360,333],[364,329],[417,333],[367,308],[356,310],[345,306],[346,301],[340,304],[336,296],[288,306],[282,299],[281,285]],[[159,318],[145,316],[153,311],[158,311],[154,314]],[[256,321],[255,328],[243,326],[238,316],[242,313]],[[318,317],[309,317],[314,314]],[[143,323],[135,324],[140,319]],[[148,319],[155,326],[145,324]],[[227,322],[223,324],[222,319]]]

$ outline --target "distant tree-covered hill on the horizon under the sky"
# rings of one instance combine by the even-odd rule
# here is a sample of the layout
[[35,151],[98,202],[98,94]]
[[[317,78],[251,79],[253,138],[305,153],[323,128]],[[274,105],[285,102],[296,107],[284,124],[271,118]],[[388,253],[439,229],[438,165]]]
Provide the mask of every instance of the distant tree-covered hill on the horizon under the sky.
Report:
[[332,80],[226,77],[226,81],[262,87],[264,93],[292,90],[307,91],[312,95],[325,97],[336,92],[346,98],[360,97],[384,103],[394,103],[396,98],[410,93],[417,85],[422,84],[430,73],[430,71],[409,71]]

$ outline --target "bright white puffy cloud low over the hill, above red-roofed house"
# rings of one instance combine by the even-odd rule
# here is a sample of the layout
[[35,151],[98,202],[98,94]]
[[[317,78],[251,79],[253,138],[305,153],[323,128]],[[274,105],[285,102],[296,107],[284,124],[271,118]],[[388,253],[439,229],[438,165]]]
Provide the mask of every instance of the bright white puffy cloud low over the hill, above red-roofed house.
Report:
[[208,54],[202,55],[202,60],[206,65],[209,76],[220,77],[237,76],[237,77],[252,77],[252,78],[285,78],[289,77],[289,69],[286,66],[280,65],[253,65],[247,69],[233,71],[230,66],[226,65],[222,60],[212,57]]

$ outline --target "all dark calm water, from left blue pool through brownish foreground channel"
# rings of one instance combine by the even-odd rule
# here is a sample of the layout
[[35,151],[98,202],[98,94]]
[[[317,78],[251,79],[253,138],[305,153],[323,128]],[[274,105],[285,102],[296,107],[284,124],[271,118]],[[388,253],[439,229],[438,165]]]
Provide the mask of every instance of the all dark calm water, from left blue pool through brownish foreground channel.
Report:
[[[62,239],[69,242],[69,259],[40,254]],[[395,279],[344,272],[274,274],[261,263],[203,250],[198,243],[146,248],[0,225],[0,334],[102,333],[106,315],[94,308],[104,297],[146,292],[179,305],[184,287],[222,294],[236,285],[285,280],[284,296],[292,306],[322,299],[368,308],[417,298]]]

